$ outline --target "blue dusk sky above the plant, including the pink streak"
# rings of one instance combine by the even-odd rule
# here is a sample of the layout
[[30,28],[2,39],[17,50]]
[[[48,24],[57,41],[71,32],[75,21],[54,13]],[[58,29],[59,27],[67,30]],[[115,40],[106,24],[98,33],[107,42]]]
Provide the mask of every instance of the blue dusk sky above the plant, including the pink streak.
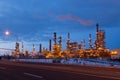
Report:
[[[25,49],[48,47],[53,32],[63,37],[71,33],[71,41],[88,41],[91,33],[95,40],[95,23],[106,32],[106,46],[120,48],[119,0],[0,0],[0,47],[14,48],[18,35]],[[5,36],[4,31],[11,35]],[[88,42],[86,43],[88,44]],[[20,45],[21,47],[21,45]]]

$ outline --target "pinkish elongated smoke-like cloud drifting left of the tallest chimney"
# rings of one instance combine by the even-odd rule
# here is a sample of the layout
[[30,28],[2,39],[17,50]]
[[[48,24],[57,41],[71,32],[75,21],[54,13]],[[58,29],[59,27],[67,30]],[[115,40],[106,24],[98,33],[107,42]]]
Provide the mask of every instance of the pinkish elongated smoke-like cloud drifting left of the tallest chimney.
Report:
[[79,22],[80,24],[85,25],[85,26],[90,26],[90,25],[93,25],[93,24],[94,24],[94,21],[92,21],[92,20],[83,20],[83,19],[81,19],[81,18],[79,18],[79,17],[72,16],[72,15],[59,16],[58,19],[59,19],[59,20],[72,20],[72,21],[77,21],[77,22]]

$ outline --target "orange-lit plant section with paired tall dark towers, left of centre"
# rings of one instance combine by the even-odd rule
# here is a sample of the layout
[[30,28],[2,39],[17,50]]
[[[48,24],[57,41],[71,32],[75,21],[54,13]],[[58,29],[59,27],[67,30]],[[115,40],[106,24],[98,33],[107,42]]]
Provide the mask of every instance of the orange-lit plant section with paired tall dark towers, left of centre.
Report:
[[[58,40],[58,41],[57,41]],[[52,41],[49,40],[49,50],[45,49],[41,52],[41,55],[45,55],[46,58],[60,58],[62,57],[62,37],[58,37],[57,39],[57,33],[53,33],[53,46]]]

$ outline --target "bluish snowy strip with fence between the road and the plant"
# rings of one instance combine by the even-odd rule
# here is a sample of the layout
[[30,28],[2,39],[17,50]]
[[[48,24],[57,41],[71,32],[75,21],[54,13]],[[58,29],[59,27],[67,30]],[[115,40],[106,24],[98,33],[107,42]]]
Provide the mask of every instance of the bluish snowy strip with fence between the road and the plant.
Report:
[[90,66],[117,66],[120,67],[120,62],[112,62],[108,60],[96,60],[96,59],[11,59],[17,62],[32,62],[32,63],[60,63],[60,64],[71,64],[71,65],[90,65]]

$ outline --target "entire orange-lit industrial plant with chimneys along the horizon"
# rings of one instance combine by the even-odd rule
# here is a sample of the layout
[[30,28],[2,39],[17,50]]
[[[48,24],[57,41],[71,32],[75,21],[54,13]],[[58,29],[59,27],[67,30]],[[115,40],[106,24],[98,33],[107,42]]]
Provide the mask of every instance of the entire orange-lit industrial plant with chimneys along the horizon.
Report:
[[[30,53],[28,50],[24,52],[24,45],[22,43],[22,51],[20,52],[19,43],[16,42],[15,51],[12,52],[13,57],[31,57],[31,58],[111,58],[111,55],[116,53],[106,48],[105,31],[99,29],[99,24],[96,24],[96,39],[92,40],[92,35],[89,34],[89,48],[86,48],[85,40],[81,42],[72,42],[70,33],[66,39],[66,49],[62,49],[62,37],[53,33],[53,40],[49,40],[49,49],[42,48],[39,45],[39,52],[35,51],[33,44],[33,51]],[[94,44],[92,44],[94,43]]]

